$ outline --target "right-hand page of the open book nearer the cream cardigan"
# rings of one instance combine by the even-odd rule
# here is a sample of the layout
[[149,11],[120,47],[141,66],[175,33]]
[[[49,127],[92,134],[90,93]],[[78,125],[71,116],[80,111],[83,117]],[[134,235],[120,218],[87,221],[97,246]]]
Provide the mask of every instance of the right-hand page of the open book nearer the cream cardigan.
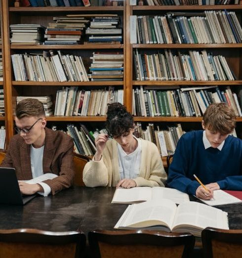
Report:
[[173,201],[176,204],[182,204],[190,202],[189,195],[183,193],[177,189],[166,187],[154,187],[152,188],[152,199],[164,198]]

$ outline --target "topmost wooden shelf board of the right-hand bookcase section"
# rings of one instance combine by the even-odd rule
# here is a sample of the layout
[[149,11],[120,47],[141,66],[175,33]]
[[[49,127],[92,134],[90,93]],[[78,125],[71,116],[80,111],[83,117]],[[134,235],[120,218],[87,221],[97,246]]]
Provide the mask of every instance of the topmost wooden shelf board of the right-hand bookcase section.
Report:
[[228,5],[134,5],[130,6],[130,9],[133,11],[195,11],[195,10],[242,10],[242,4],[228,4]]

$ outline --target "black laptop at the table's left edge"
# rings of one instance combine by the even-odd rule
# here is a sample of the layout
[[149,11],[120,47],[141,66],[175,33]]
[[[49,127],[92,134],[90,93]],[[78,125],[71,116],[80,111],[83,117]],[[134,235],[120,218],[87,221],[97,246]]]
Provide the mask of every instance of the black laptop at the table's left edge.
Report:
[[36,195],[22,195],[15,169],[0,168],[0,204],[25,205]]

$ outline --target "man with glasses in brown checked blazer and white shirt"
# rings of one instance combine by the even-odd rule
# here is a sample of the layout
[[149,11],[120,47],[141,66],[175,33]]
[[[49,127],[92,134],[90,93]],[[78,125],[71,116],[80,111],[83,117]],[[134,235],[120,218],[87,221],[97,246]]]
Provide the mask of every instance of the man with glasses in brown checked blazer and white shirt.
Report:
[[[73,139],[45,127],[43,105],[37,99],[20,101],[15,113],[18,134],[12,137],[1,167],[15,168],[23,194],[54,195],[70,187],[74,178]],[[58,176],[37,184],[24,182],[44,173]]]

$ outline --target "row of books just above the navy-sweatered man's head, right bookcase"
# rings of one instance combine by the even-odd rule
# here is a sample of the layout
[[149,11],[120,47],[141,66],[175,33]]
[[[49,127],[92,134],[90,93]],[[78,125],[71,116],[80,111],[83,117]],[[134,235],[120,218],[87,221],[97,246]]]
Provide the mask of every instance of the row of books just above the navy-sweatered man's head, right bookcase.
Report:
[[211,103],[227,103],[242,117],[241,105],[230,86],[220,90],[218,86],[188,87],[173,90],[133,89],[134,116],[186,116],[201,117]]

